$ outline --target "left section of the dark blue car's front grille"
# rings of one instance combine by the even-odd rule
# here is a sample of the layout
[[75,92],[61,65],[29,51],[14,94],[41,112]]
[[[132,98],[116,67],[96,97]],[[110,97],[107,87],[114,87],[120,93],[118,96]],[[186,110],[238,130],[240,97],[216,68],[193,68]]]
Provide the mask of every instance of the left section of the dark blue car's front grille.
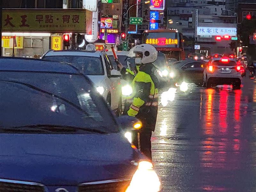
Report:
[[44,186],[0,181],[0,192],[44,192]]

